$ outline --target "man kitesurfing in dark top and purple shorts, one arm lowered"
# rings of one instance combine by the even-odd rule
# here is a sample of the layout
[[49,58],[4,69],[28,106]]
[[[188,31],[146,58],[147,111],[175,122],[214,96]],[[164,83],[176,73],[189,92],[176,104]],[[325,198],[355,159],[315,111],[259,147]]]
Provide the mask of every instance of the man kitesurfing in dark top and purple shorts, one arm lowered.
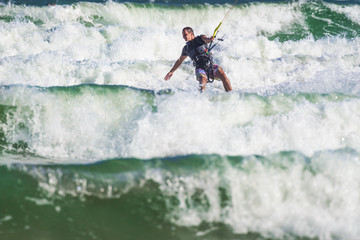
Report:
[[225,91],[232,90],[229,79],[227,78],[224,70],[218,65],[212,64],[210,53],[208,52],[208,43],[214,41],[214,37],[208,38],[205,35],[195,37],[194,31],[190,27],[185,27],[182,30],[182,35],[186,41],[181,56],[175,62],[174,66],[166,74],[165,80],[169,80],[174,74],[176,69],[180,67],[183,61],[189,56],[194,63],[196,78],[200,83],[200,91],[205,89],[205,85],[210,79],[220,79],[224,85]]

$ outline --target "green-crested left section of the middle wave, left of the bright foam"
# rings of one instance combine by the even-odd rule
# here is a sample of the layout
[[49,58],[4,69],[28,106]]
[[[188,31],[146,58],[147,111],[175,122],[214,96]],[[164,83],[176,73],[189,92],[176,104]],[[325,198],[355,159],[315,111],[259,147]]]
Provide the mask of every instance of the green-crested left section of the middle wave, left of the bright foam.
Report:
[[69,159],[125,156],[136,120],[152,111],[154,101],[150,91],[122,86],[14,86],[1,92],[6,149]]

